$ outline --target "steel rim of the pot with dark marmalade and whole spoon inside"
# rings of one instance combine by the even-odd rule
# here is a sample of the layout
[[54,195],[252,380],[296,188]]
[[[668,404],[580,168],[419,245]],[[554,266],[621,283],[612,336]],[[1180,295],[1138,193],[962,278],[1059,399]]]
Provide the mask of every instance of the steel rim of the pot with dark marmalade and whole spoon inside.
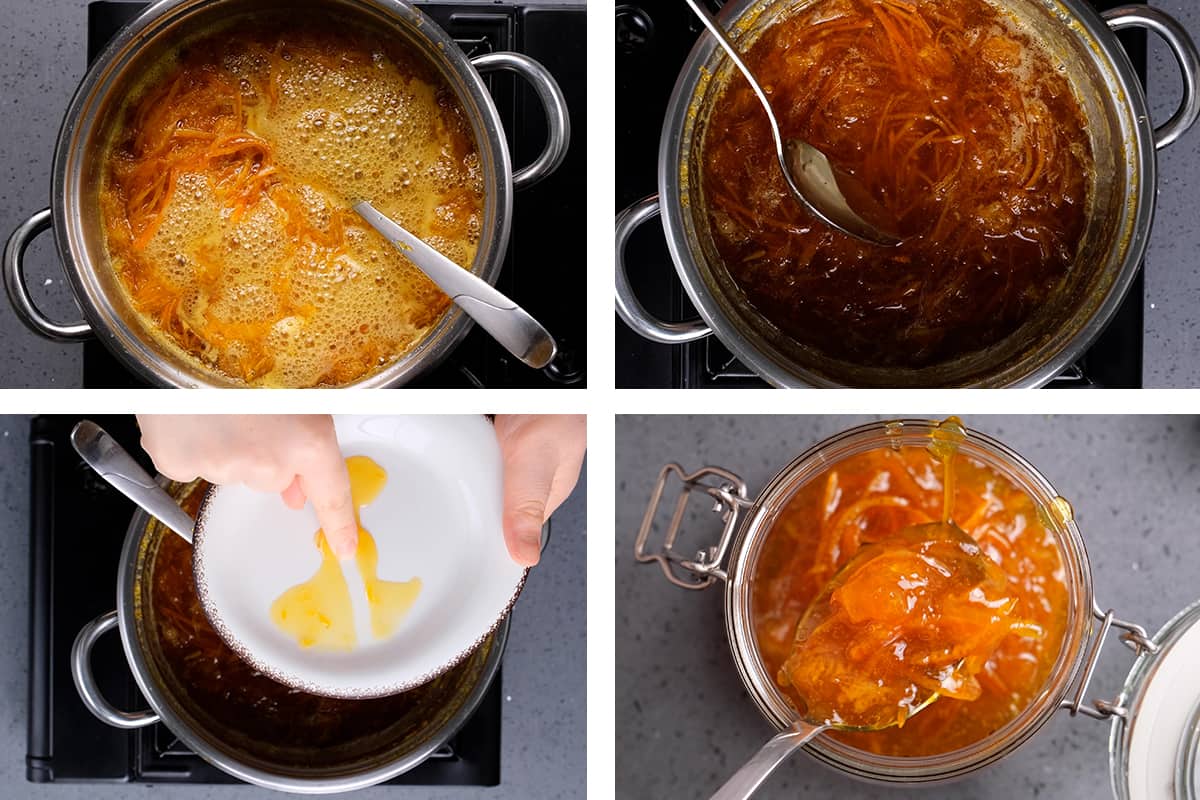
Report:
[[[1090,50],[1097,59],[1108,62],[1110,73],[1120,86],[1121,94],[1114,97],[1114,104],[1124,120],[1123,125],[1133,133],[1132,142],[1127,140],[1124,146],[1126,164],[1132,164],[1136,169],[1130,190],[1136,197],[1136,204],[1135,207],[1127,210],[1127,219],[1132,219],[1132,223],[1122,223],[1122,228],[1132,230],[1128,233],[1123,230],[1121,234],[1126,246],[1121,267],[1104,301],[1091,311],[1087,323],[1074,337],[1044,345],[1043,350],[1057,349],[1028,373],[1003,374],[1001,380],[980,381],[977,384],[979,386],[1043,386],[1078,360],[1104,332],[1128,294],[1141,266],[1154,216],[1158,186],[1154,131],[1150,122],[1145,91],[1124,47],[1105,20],[1084,0],[1042,1],[1056,8],[1063,24],[1069,26],[1076,37],[1087,37],[1096,43],[1097,47]],[[775,0],[737,0],[721,11],[720,23],[726,29],[736,28],[737,20],[748,13],[764,11],[773,5],[776,5]],[[659,140],[659,207],[676,273],[691,303],[712,327],[713,335],[764,380],[778,387],[844,386],[798,365],[784,365],[770,353],[756,347],[751,338],[743,333],[742,326],[721,309],[713,291],[701,277],[689,246],[679,180],[679,166],[684,163],[686,156],[683,152],[683,131],[690,124],[689,106],[697,85],[712,77],[706,65],[716,49],[716,42],[708,35],[702,35],[692,47],[667,101],[662,136]]]

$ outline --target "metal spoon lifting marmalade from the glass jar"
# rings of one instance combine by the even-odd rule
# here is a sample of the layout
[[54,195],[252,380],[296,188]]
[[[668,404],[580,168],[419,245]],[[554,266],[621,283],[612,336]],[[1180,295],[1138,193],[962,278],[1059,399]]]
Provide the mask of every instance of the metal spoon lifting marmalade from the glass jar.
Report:
[[[934,539],[950,539],[954,541],[962,540],[974,545],[974,540],[972,540],[953,522],[910,525],[901,529],[895,537],[906,539],[913,543],[918,541],[932,541]],[[964,557],[972,560],[988,558],[986,555],[979,553],[978,549],[974,555],[964,553]],[[852,558],[838,570],[821,594],[814,599],[808,610],[804,612],[804,616],[800,619],[798,627],[816,627],[816,624],[821,619],[821,613],[827,610],[829,607],[828,603],[829,597],[833,594],[833,589],[841,585],[841,581],[846,577],[847,570],[857,561],[857,557]],[[821,603],[824,604],[821,606]],[[924,710],[937,698],[938,694],[936,692],[930,694],[924,700],[914,705],[908,711],[906,718],[911,718],[914,714]],[[725,784],[716,790],[716,794],[713,795],[712,800],[746,800],[755,793],[755,790],[757,790],[760,786],[762,786],[762,782],[766,781],[773,771],[775,771],[775,768],[779,766],[784,759],[803,747],[809,740],[816,738],[826,730],[883,730],[884,728],[890,728],[899,722],[894,714],[888,718],[889,721],[883,724],[852,726],[800,717],[792,723],[791,728],[769,739],[767,744],[750,758],[749,762],[742,765],[742,769],[733,774],[733,777],[726,781]]]

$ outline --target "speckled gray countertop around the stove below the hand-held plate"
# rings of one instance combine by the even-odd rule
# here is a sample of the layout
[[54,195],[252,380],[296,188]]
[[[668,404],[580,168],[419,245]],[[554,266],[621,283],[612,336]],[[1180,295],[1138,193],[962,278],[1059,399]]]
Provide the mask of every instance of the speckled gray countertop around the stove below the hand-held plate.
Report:
[[[0,416],[0,798],[116,800],[142,796],[144,787],[34,786],[25,782],[25,716],[29,673],[29,422]],[[504,654],[500,786],[380,787],[355,800],[428,798],[582,798],[586,783],[584,560],[587,473],[554,515],[553,534],[514,609]],[[132,506],[131,506],[132,509]],[[116,576],[113,576],[116,579]],[[65,657],[66,654],[62,654]],[[152,796],[185,800],[254,800],[277,793],[246,786],[158,786]],[[146,795],[151,796],[151,795]]]

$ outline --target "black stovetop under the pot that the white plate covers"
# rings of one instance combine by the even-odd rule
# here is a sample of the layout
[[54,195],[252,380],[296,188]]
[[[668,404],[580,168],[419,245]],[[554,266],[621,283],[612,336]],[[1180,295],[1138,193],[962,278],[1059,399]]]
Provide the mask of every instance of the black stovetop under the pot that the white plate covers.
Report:
[[[76,692],[68,656],[79,630],[116,603],[116,567],[133,505],[72,450],[78,416],[35,417],[30,428],[30,661],[25,777],[35,783],[235,783],[162,723],[112,728]],[[90,417],[138,453],[133,417]],[[146,708],[121,650],[103,637],[92,669],[119,708]],[[500,674],[475,714],[427,760],[385,786],[497,786],[500,781]],[[10,787],[4,796],[17,796]],[[403,794],[402,789],[397,790]]]

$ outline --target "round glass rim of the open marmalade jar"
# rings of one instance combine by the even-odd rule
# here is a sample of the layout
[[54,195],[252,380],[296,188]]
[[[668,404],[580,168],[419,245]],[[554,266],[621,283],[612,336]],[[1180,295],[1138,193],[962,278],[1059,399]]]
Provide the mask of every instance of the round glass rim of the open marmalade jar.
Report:
[[[746,693],[754,700],[755,706],[775,729],[784,729],[796,718],[796,710],[784,698],[782,693],[767,674],[757,643],[754,637],[754,625],[750,616],[750,590],[752,584],[752,567],[757,563],[756,547],[766,540],[773,529],[775,517],[779,511],[786,507],[787,503],[797,491],[798,475],[805,468],[815,468],[814,475],[822,474],[832,463],[829,450],[836,447],[859,447],[852,452],[862,452],[869,449],[877,449],[887,445],[911,446],[922,441],[928,443],[929,433],[937,426],[936,421],[920,419],[882,420],[868,422],[832,437],[822,439],[817,444],[806,449],[787,465],[781,468],[757,494],[748,506],[737,533],[730,546],[727,569],[725,571],[725,597],[724,616],[726,639],[730,652],[738,670],[738,676],[745,687]],[[971,456],[973,451],[982,451],[994,459],[1009,462],[1010,473],[1020,473],[1032,488],[1048,498],[1058,497],[1057,491],[1049,479],[1024,456],[1006,445],[1004,443],[989,437],[985,433],[966,429],[966,439],[962,445],[962,455]],[[870,447],[871,440],[878,439]],[[977,446],[978,445],[978,446]],[[840,453],[833,458],[840,459],[850,453]],[[1021,481],[1014,481],[1021,486]],[[1026,487],[1021,487],[1026,488]],[[1034,495],[1034,501],[1040,500]],[[1082,536],[1073,518],[1067,521],[1055,521],[1060,524],[1058,541],[1060,557],[1063,561],[1063,570],[1075,585],[1068,583],[1068,593],[1073,602],[1069,609],[1067,628],[1063,636],[1056,666],[1046,678],[1039,694],[1034,697],[1030,705],[1014,717],[998,732],[992,733],[986,739],[979,740],[958,751],[929,757],[887,757],[865,753],[856,747],[832,742],[826,736],[814,739],[805,745],[808,752],[816,760],[830,766],[840,772],[856,778],[886,782],[888,784],[900,783],[935,783],[953,780],[974,772],[984,766],[1008,757],[1021,745],[1032,739],[1040,728],[1054,717],[1055,711],[1061,708],[1061,702],[1075,687],[1076,679],[1082,669],[1087,656],[1087,643],[1092,632],[1092,607],[1094,604],[1094,585],[1091,563]],[[755,552],[750,552],[750,551]],[[746,559],[749,558],[749,564]],[[1021,717],[1025,717],[1021,720]],[[864,753],[858,763],[847,760],[847,752]],[[964,753],[956,762],[950,762],[949,756]],[[866,764],[866,759],[872,763]],[[914,765],[914,762],[946,762],[944,764],[932,764],[928,768]],[[866,765],[864,765],[866,764]],[[941,771],[938,771],[941,770]]]

